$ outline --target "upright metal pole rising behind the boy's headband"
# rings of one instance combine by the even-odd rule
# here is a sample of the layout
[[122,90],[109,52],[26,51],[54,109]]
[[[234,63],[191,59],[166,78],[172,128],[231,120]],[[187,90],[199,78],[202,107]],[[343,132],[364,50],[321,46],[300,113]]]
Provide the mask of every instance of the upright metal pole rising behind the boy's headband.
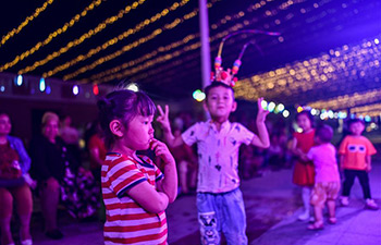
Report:
[[198,0],[199,22],[201,36],[201,74],[202,87],[210,84],[210,46],[209,46],[209,19],[207,0]]

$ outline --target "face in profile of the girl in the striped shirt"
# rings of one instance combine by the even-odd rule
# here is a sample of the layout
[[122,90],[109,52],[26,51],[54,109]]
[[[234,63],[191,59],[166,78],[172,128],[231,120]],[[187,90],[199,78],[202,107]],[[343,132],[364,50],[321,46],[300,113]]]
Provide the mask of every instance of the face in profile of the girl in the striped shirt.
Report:
[[153,138],[153,115],[137,115],[130,123],[124,134],[124,145],[133,150],[146,150]]

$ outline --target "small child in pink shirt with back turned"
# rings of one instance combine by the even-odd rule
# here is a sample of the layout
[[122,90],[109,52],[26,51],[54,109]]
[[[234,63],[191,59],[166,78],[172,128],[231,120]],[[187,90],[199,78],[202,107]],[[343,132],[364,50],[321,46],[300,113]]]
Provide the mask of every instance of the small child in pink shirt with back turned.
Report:
[[329,125],[322,125],[315,133],[316,146],[311,147],[306,156],[315,164],[315,186],[311,194],[315,223],[308,225],[309,230],[323,228],[322,209],[327,203],[331,224],[336,223],[335,199],[340,191],[340,174],[336,162],[336,149],[330,143],[333,130]]

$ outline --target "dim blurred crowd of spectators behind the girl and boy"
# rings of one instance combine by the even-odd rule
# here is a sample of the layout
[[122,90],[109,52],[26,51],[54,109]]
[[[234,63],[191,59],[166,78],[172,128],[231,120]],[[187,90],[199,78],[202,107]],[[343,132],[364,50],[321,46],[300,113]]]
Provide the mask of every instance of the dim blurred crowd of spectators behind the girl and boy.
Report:
[[[200,117],[190,111],[181,111],[170,118],[173,134],[180,135]],[[44,217],[46,235],[53,240],[64,235],[58,226],[60,208],[78,220],[105,221],[100,167],[107,149],[99,122],[93,121],[76,127],[71,121],[71,117],[62,115],[60,119],[57,113],[46,112],[41,118],[40,134],[24,144],[14,136],[17,132],[12,131],[12,119],[0,112],[1,244],[13,244],[12,231],[14,236],[15,230],[21,244],[32,244],[30,217],[38,211]],[[233,113],[231,121],[257,132],[255,118],[248,118],[244,111]],[[320,120],[315,121],[321,123]],[[297,157],[293,152],[293,135],[300,127],[296,121],[269,117],[267,127],[271,143],[268,149],[253,145],[241,147],[239,175],[243,180],[260,177],[268,171],[297,164]],[[335,123],[332,127],[335,130],[333,144],[339,148],[348,128],[344,124],[337,132]],[[156,128],[156,137],[162,138],[159,127]],[[179,198],[182,195],[195,195],[197,149],[182,145],[170,150],[177,164]],[[39,204],[40,210],[34,204]],[[11,229],[11,224],[16,224],[16,228]]]

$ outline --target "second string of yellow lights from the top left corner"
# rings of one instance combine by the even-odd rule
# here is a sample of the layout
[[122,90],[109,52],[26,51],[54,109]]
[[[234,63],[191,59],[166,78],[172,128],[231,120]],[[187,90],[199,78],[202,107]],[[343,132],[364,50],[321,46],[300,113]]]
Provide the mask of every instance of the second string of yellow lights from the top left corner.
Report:
[[12,66],[14,66],[15,64],[17,64],[20,61],[24,60],[25,58],[32,56],[33,53],[35,53],[37,50],[39,50],[40,48],[47,46],[53,38],[58,37],[59,35],[65,33],[70,27],[73,27],[77,22],[79,22],[79,20],[84,16],[87,15],[87,13],[91,10],[94,10],[95,8],[99,7],[102,3],[102,0],[95,0],[93,1],[89,5],[87,5],[82,12],[81,14],[76,14],[74,17],[72,17],[72,20],[70,22],[66,22],[65,24],[63,24],[62,27],[56,29],[54,32],[50,33],[48,35],[48,37],[44,40],[44,41],[39,41],[37,42],[33,48],[30,48],[27,51],[24,51],[23,53],[16,56],[13,61],[10,61],[3,65],[0,66],[0,72],[8,70]]

